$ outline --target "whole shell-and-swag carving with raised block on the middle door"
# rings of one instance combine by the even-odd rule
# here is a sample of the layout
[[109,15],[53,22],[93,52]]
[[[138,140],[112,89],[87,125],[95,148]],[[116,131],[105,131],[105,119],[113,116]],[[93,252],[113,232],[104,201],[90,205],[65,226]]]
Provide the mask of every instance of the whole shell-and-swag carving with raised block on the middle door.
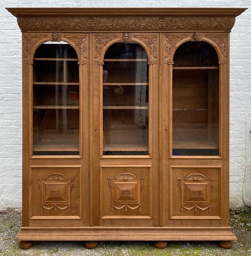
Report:
[[143,177],[139,179],[130,173],[118,174],[114,179],[107,177],[111,191],[111,211],[128,209],[141,211],[140,190],[143,188]]

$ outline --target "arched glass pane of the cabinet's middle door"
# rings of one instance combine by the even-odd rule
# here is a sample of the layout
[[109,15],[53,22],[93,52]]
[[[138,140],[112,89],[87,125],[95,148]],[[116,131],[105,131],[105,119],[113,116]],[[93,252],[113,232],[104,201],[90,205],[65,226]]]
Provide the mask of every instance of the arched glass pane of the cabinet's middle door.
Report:
[[148,155],[147,54],[136,43],[107,49],[103,66],[103,154]]

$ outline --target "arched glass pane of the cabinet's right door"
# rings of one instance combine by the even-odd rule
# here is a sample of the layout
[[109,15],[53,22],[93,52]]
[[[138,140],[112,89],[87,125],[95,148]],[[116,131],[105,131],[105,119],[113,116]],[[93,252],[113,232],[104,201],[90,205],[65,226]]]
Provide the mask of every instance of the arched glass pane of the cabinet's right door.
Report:
[[219,155],[219,67],[214,48],[187,42],[174,55],[173,156]]

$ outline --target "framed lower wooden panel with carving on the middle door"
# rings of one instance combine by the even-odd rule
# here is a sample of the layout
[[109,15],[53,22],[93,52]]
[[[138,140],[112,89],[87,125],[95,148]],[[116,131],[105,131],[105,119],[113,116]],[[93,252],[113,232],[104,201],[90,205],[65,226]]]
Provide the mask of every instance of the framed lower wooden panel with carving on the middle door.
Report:
[[103,165],[101,225],[151,225],[151,165]]

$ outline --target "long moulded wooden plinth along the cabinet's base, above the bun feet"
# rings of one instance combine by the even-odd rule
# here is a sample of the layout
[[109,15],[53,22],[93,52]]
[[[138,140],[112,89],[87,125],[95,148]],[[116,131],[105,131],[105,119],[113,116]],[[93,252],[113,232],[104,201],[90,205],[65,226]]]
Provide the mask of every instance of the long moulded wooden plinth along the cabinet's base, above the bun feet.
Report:
[[230,227],[22,227],[19,241],[236,241]]

